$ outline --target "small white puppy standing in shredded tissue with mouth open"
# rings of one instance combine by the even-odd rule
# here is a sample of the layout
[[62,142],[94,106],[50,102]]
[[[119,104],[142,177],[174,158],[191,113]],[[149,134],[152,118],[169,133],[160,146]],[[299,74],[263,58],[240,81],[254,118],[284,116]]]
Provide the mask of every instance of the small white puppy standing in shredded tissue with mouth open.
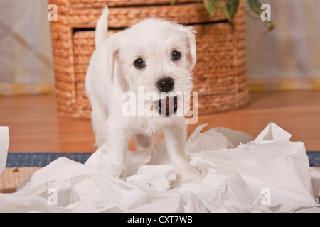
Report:
[[[133,135],[139,150],[152,146],[154,134],[162,131],[179,183],[198,177],[200,173],[190,165],[184,150],[185,118],[176,114],[178,106],[183,105],[181,93],[193,88],[191,70],[196,64],[193,29],[146,19],[107,38],[108,14],[106,7],[97,23],[96,50],[85,81],[98,147],[105,146],[105,153],[114,162],[123,164]],[[144,110],[161,115],[125,116],[127,100],[123,94],[130,92],[139,98],[141,89],[143,94],[159,95],[151,101],[144,97],[142,102]]]

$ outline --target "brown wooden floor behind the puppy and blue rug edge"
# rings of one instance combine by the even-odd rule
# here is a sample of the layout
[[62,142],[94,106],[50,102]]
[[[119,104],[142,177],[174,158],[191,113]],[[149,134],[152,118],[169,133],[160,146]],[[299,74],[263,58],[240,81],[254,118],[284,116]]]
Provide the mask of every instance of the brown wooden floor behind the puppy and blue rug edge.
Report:
[[[254,137],[274,122],[320,150],[320,91],[252,93],[251,104],[237,111],[201,116],[197,126],[227,127]],[[58,117],[55,96],[0,97],[0,126],[9,126],[11,153],[94,152],[90,121]]]

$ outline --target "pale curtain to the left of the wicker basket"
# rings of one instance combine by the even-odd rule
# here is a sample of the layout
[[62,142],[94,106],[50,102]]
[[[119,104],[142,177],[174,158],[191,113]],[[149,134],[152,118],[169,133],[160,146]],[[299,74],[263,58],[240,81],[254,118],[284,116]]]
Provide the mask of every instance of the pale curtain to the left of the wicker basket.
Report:
[[54,91],[46,0],[0,0],[0,95]]

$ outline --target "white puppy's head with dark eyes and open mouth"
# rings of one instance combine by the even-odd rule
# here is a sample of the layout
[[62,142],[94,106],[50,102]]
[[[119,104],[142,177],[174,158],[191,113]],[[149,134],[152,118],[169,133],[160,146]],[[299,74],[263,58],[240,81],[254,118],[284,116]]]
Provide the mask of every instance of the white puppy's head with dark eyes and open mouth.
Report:
[[143,87],[161,115],[174,114],[182,104],[181,94],[193,89],[196,42],[192,28],[156,19],[142,21],[122,32],[115,55],[118,81],[135,94]]

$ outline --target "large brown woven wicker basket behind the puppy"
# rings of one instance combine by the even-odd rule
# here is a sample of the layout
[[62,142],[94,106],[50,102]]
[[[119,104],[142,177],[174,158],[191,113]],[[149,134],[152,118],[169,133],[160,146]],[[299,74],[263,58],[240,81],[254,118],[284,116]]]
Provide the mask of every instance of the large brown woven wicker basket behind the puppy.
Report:
[[[191,24],[197,32],[197,64],[194,89],[199,92],[199,114],[227,111],[249,102],[246,69],[245,13],[238,11],[234,23],[217,11],[210,18],[202,4],[181,0],[51,0],[58,6],[52,21],[55,88],[61,116],[90,118],[85,94],[85,74],[95,50],[95,25],[107,4],[112,35],[142,18],[166,18]],[[240,7],[244,5],[240,1]]]

